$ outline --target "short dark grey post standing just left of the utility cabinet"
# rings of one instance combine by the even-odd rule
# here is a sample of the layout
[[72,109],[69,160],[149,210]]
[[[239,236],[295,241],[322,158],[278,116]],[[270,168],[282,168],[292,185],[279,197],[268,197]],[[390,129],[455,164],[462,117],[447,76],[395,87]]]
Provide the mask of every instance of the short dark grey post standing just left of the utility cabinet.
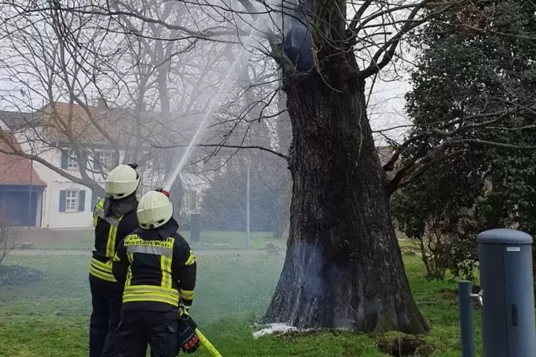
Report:
[[462,280],[458,282],[458,301],[460,310],[461,356],[475,357],[475,336],[473,331],[473,284]]

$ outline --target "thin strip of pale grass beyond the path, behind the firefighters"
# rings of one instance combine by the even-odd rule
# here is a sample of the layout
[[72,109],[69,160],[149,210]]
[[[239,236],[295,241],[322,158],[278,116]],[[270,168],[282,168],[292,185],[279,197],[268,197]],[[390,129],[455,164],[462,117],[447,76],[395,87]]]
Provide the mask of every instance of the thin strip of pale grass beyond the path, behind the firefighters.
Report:
[[[186,238],[190,239],[188,230],[180,231]],[[36,235],[25,238],[25,241],[32,242],[38,248],[68,248],[68,249],[93,249],[93,230],[48,230],[46,235]],[[234,231],[206,231],[201,232],[199,243],[190,242],[195,248],[214,249],[240,249],[246,247],[246,233]],[[251,232],[251,247],[260,249],[270,243],[278,248],[286,247],[286,240],[273,238],[270,232]]]

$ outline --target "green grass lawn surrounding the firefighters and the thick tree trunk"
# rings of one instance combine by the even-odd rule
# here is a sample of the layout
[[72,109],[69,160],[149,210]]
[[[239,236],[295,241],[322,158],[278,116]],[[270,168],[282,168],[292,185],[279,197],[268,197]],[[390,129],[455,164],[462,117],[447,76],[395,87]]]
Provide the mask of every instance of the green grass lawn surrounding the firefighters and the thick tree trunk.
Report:
[[[192,316],[225,357],[233,356],[387,356],[377,343],[386,336],[332,333],[251,336],[278,281],[283,254],[266,251],[198,252],[199,274]],[[459,357],[458,308],[449,282],[426,282],[416,256],[404,257],[414,297],[433,329],[426,341],[430,356]],[[90,293],[88,258],[75,255],[17,255],[6,264],[37,268],[41,282],[0,287],[0,356],[87,356]],[[477,353],[480,315],[475,311]],[[201,349],[195,356],[209,356]]]

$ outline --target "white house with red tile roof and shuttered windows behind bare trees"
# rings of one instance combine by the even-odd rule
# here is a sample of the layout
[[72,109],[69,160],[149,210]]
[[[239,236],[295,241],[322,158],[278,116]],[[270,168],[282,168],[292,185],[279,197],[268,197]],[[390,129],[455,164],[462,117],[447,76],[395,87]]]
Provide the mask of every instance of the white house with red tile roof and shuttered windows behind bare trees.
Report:
[[[177,124],[177,119],[173,121],[172,124]],[[187,144],[196,125],[196,120],[182,121],[180,132],[177,132],[162,122],[158,113],[142,112],[135,117],[131,110],[107,107],[102,100],[96,106],[86,107],[57,102],[33,113],[0,112],[0,127],[3,129],[0,143],[9,146],[9,135],[19,144],[14,151],[31,154],[28,156],[34,158],[37,156],[31,161],[33,171],[28,171],[36,172],[36,177],[44,185],[41,186],[41,201],[33,200],[41,205],[41,219],[36,220],[36,225],[43,228],[88,228],[93,225],[93,208],[100,198],[88,182],[103,187],[104,174],[112,169],[113,161],[130,161],[128,156],[139,144],[142,156],[146,157],[139,169],[142,185],[138,194],[163,186],[166,172],[162,170],[162,157],[173,154],[177,159],[180,153],[174,149],[168,151],[169,154],[157,154],[147,140],[157,137],[159,144],[169,145],[177,144],[178,139]],[[143,139],[141,144],[137,142],[140,137]],[[0,151],[9,150],[0,147]],[[24,159],[23,156],[8,156]],[[181,173],[187,201],[183,208],[195,211],[207,182],[186,171]],[[190,202],[192,197],[195,204]]]

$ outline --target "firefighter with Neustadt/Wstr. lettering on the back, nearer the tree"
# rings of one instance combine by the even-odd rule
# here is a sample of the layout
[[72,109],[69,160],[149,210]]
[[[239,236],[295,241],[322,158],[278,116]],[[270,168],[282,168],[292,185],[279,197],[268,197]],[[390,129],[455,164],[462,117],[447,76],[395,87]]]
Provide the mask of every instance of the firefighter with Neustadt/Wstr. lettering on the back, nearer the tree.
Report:
[[186,353],[199,347],[187,312],[194,299],[196,260],[172,215],[169,193],[145,193],[137,208],[139,227],[117,248],[112,270],[125,282],[125,292],[116,356],[144,357],[147,345],[151,357],[174,357],[180,347]]

